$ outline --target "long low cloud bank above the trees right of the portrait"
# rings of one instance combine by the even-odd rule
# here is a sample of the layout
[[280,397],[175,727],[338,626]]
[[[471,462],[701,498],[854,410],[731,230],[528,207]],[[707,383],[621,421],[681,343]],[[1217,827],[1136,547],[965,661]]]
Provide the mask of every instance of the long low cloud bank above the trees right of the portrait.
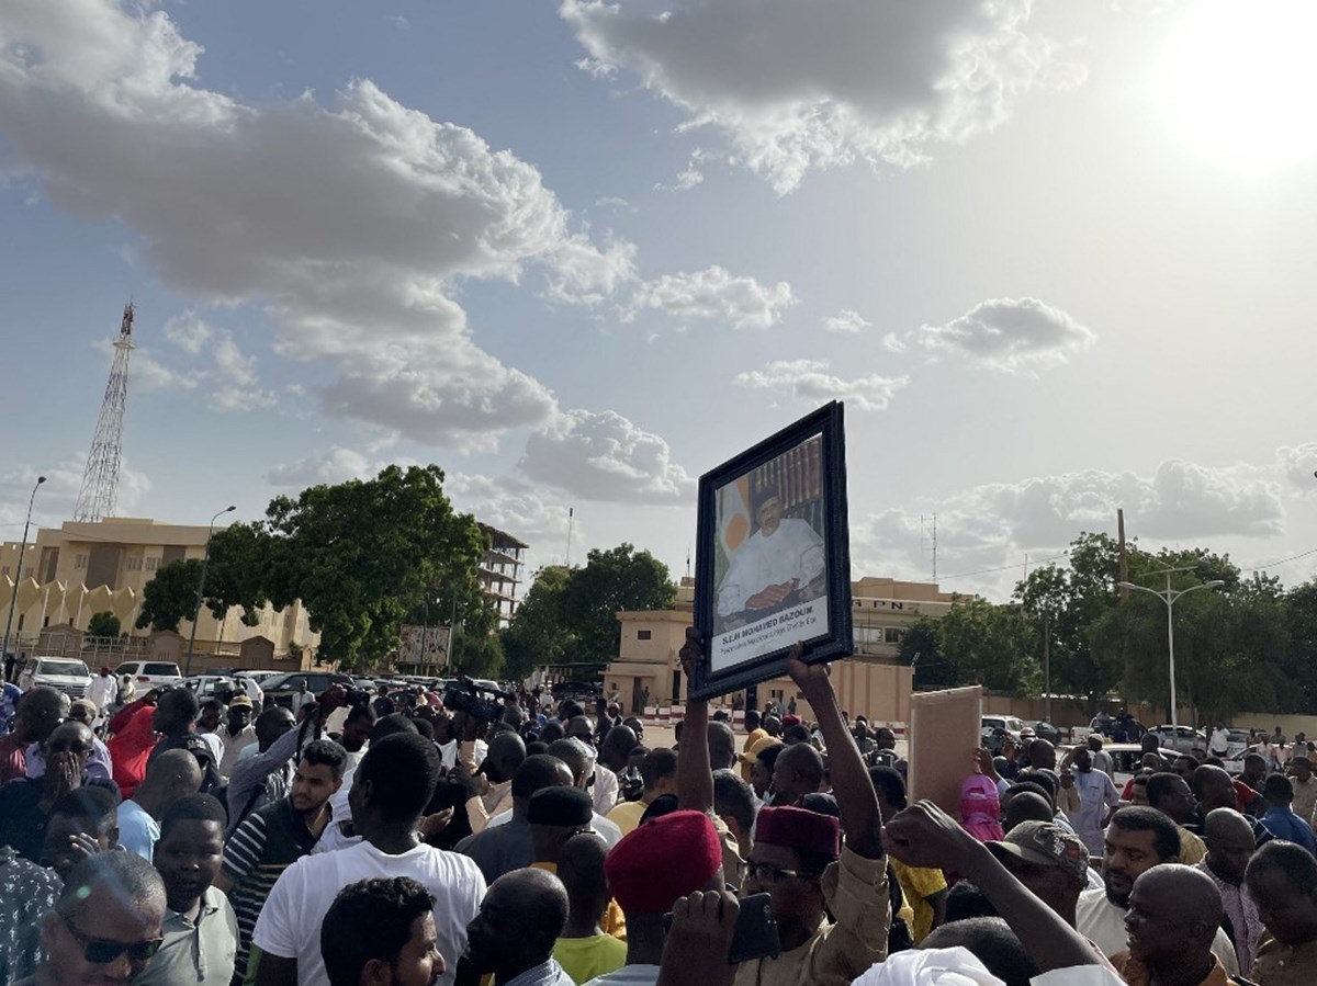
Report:
[[1284,532],[1285,520],[1280,486],[1267,470],[1168,459],[1146,477],[1096,469],[1030,477],[975,486],[923,511],[869,513],[852,523],[852,557],[856,566],[871,566],[857,570],[927,577],[931,541],[926,532],[936,513],[939,570],[972,573],[1009,565],[1005,575],[984,573],[969,583],[1000,590],[1022,578],[1026,553],[1038,563],[1083,531],[1114,533],[1119,508],[1129,534],[1146,542],[1272,537]]

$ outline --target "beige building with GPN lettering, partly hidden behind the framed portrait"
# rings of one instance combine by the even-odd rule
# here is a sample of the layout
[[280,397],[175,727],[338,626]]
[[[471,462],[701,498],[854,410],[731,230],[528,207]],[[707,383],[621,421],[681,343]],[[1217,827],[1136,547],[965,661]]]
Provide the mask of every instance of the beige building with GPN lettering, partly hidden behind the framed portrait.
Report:
[[[954,595],[926,582],[898,582],[867,577],[851,583],[855,656],[832,665],[832,685],[842,708],[852,717],[876,723],[905,723],[910,716],[914,670],[897,662],[906,629],[921,617],[940,617]],[[605,671],[605,695],[616,694],[623,707],[664,708],[686,702],[686,682],[677,657],[686,638],[694,608],[694,582],[682,579],[672,610],[620,612],[622,644],[618,660]],[[784,706],[797,702],[798,714],[810,710],[789,678],[760,682],[756,704],[768,700]],[[716,700],[731,706],[745,702],[745,692]]]

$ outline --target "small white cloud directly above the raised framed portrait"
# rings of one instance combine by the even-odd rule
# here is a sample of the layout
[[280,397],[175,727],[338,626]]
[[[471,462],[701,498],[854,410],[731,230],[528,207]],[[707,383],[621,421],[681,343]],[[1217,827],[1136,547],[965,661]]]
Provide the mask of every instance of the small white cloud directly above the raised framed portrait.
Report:
[[641,284],[631,299],[624,320],[652,308],[682,319],[722,321],[734,329],[766,329],[795,304],[785,280],[761,284],[749,276],[734,276],[712,266],[693,274],[665,274]]

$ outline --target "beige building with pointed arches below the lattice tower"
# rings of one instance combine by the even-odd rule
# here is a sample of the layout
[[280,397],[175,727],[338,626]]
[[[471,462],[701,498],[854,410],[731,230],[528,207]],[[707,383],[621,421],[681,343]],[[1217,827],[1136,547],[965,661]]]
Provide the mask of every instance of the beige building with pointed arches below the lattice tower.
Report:
[[[78,631],[84,632],[94,613],[109,611],[119,617],[124,633],[130,635],[119,649],[109,642],[96,646],[97,661],[130,660],[145,654],[148,631],[133,625],[141,612],[142,590],[161,566],[187,558],[200,559],[205,553],[207,528],[202,525],[165,524],[140,517],[108,517],[96,523],[67,521],[61,528],[46,528],[29,544],[17,573],[21,545],[0,545],[0,620],[9,616],[14,578],[18,579],[17,604],[9,650],[14,654],[37,653],[65,641],[65,648],[80,646]],[[242,621],[242,607],[230,607],[216,620],[202,607],[196,627],[192,671],[207,667],[249,666],[267,654],[275,663],[265,667],[296,670],[309,667],[320,635],[308,625],[308,613],[300,602],[284,610],[266,606],[257,613],[255,625]],[[50,628],[67,627],[68,633],[46,633]],[[190,620],[179,624],[186,641],[192,632]],[[244,642],[255,641],[244,648]],[[269,642],[269,646],[265,646]],[[92,646],[91,641],[86,642]],[[186,644],[183,652],[186,653]]]

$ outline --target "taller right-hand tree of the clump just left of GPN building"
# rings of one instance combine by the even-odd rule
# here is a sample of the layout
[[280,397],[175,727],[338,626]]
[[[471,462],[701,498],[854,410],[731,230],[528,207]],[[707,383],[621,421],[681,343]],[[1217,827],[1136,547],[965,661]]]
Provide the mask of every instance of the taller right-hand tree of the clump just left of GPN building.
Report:
[[576,662],[607,663],[618,657],[624,610],[669,610],[677,588],[668,566],[649,552],[622,544],[586,556],[583,569],[574,569],[564,599],[565,625],[576,633]]

